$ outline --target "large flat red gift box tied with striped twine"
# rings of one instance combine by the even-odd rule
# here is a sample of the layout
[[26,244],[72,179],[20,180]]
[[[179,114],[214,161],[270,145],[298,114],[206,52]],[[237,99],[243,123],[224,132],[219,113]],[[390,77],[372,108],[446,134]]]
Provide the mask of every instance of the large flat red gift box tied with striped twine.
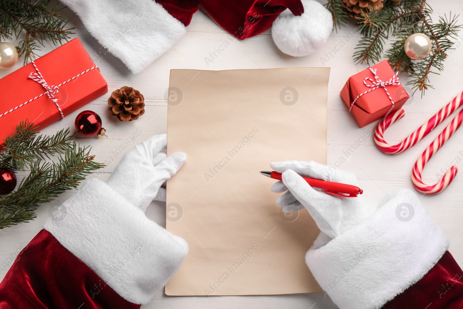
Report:
[[0,104],[0,141],[20,121],[49,126],[108,91],[77,38],[3,77],[0,88],[9,94]]

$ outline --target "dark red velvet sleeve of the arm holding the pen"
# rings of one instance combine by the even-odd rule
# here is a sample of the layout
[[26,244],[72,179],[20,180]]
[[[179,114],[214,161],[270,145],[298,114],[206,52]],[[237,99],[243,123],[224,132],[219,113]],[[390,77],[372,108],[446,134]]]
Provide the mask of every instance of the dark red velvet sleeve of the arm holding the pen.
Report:
[[383,308],[463,308],[463,271],[447,251],[421,280]]

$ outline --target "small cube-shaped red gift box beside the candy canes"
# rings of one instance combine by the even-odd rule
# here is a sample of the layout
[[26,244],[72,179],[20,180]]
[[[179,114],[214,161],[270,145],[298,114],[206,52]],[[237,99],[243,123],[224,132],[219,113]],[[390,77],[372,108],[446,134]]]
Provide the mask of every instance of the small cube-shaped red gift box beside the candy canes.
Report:
[[362,127],[402,107],[409,95],[389,61],[384,60],[350,76],[341,90],[341,97]]

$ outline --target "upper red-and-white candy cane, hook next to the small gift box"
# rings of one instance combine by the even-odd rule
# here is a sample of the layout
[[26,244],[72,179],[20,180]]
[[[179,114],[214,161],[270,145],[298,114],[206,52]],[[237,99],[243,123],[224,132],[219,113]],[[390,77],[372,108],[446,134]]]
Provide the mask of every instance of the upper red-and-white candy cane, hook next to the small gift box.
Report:
[[410,134],[406,139],[397,145],[390,145],[384,140],[384,131],[392,125],[395,121],[400,120],[405,112],[403,109],[398,109],[395,112],[388,114],[383,120],[380,121],[375,130],[375,143],[378,148],[388,154],[398,154],[406,151],[407,149],[416,145],[421,139],[429,134],[436,126],[440,125],[447,117],[450,116],[458,107],[463,104],[463,93],[460,93],[449,104],[442,107],[437,114],[426,121],[415,132]]

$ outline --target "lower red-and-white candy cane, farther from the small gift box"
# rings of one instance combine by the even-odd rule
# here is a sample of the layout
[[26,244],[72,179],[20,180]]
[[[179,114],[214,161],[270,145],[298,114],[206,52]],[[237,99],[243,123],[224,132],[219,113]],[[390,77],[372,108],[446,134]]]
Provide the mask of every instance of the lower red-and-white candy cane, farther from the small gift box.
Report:
[[421,180],[421,172],[425,167],[425,164],[429,159],[445,144],[445,142],[450,139],[450,137],[458,130],[461,126],[463,120],[463,110],[461,110],[457,117],[455,117],[448,126],[445,127],[444,131],[439,134],[439,136],[434,139],[431,145],[426,148],[423,154],[418,158],[413,166],[412,170],[412,182],[415,189],[424,194],[438,194],[445,190],[452,182],[453,178],[457,175],[458,168],[457,166],[452,166],[445,173],[444,177],[438,181],[438,183],[433,184],[432,186],[423,183]]

